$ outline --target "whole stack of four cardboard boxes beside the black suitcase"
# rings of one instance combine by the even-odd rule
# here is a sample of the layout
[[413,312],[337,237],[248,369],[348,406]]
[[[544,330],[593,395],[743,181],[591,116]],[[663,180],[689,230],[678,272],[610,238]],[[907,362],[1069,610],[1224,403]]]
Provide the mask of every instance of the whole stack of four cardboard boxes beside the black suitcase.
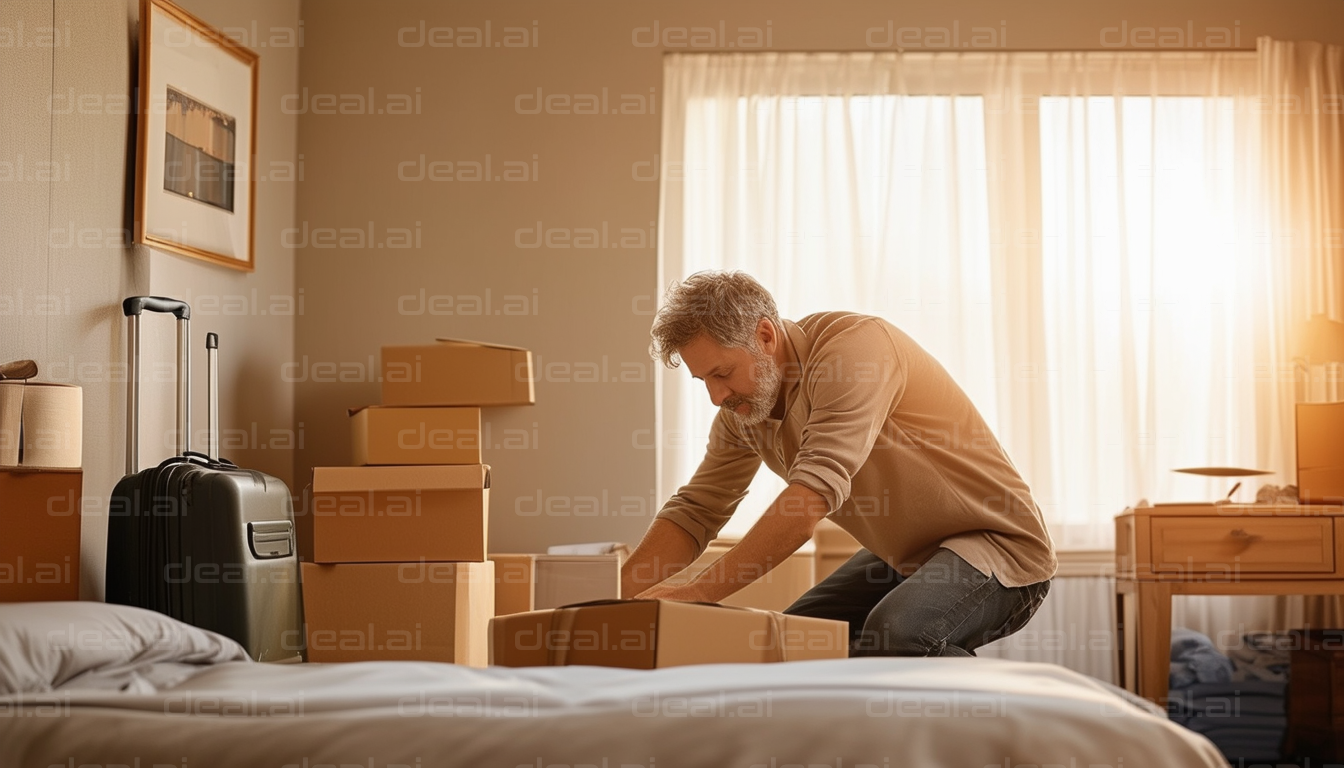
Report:
[[531,405],[527,350],[383,347],[383,405],[351,412],[355,467],[313,469],[298,526],[308,660],[485,666],[491,468],[480,406]]

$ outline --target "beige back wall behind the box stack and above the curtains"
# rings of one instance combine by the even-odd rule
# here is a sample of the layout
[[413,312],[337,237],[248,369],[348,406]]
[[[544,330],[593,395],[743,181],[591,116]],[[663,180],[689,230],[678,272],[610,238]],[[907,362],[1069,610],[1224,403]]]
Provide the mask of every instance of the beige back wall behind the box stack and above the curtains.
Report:
[[[669,43],[689,42],[691,34],[704,39],[703,31],[681,27],[708,27],[716,36],[722,24],[727,35],[715,44],[738,43],[751,34],[738,28],[754,27],[769,35],[774,50],[868,50],[870,42],[886,43],[888,23],[892,36],[906,30],[903,43],[937,42],[953,28],[960,42],[969,42],[972,27],[982,27],[995,30],[997,44],[1009,48],[1099,48],[1120,42],[1122,34],[1136,43],[1161,38],[1185,47],[1231,36],[1251,48],[1258,35],[1344,42],[1344,5],[1333,0],[309,0],[304,20],[306,101],[296,106],[306,105],[300,152],[308,172],[300,184],[298,221],[310,237],[325,230],[323,245],[332,247],[310,241],[300,250],[297,284],[308,303],[298,319],[297,355],[308,360],[309,371],[328,366],[324,373],[332,381],[309,377],[297,385],[296,414],[308,440],[296,475],[306,477],[313,465],[349,460],[343,410],[376,402],[376,369],[370,366],[380,344],[450,335],[531,347],[544,363],[538,405],[487,417],[496,441],[503,443],[503,429],[538,437],[520,449],[487,451],[495,465],[495,550],[633,542],[655,506],[655,452],[633,447],[648,444],[642,436],[655,426],[645,352],[649,317],[641,312],[659,291],[655,249],[530,249],[519,247],[516,238],[538,222],[560,230],[555,234],[562,238],[563,230],[578,227],[605,225],[610,239],[622,227],[648,229],[657,221],[657,183],[637,176],[652,176],[656,168],[660,116],[527,114],[517,110],[520,95],[521,106],[531,109],[538,89],[544,97],[606,93],[609,108],[617,108],[621,94],[657,93],[665,48],[636,44],[650,42],[655,24]],[[402,42],[417,43],[422,23],[426,44],[401,46],[399,31],[411,28]],[[458,35],[473,34],[466,28],[484,34],[487,23],[495,42],[504,42],[504,27],[521,27],[526,34],[517,39],[528,44],[427,44],[435,27],[453,28],[457,42]],[[437,35],[435,42],[445,42],[444,30]],[[339,113],[367,109],[370,94],[372,113]],[[413,95],[415,113],[379,114],[394,94]],[[335,113],[319,114],[314,108]],[[501,175],[504,161],[521,161],[535,163],[539,175],[528,182],[401,180],[399,164],[415,161],[418,174],[421,156],[427,163],[454,163],[452,171],[439,165],[445,174],[470,175],[472,167],[462,161],[489,157],[492,174]],[[370,226],[371,246],[359,239]],[[418,227],[418,247],[378,247],[388,227]],[[524,242],[535,238],[523,233]],[[493,308],[504,295],[535,292],[538,312],[465,315],[457,311],[461,304],[438,316],[399,312],[402,297],[418,297],[421,291],[454,303],[489,293]],[[418,299],[406,301],[406,308],[421,307]],[[446,301],[441,309],[449,309]],[[589,370],[581,363],[616,379],[629,373],[637,381],[578,382],[575,374]],[[551,504],[540,514],[538,494]],[[593,499],[598,514],[575,514],[575,506]],[[621,499],[633,515],[620,514]]]

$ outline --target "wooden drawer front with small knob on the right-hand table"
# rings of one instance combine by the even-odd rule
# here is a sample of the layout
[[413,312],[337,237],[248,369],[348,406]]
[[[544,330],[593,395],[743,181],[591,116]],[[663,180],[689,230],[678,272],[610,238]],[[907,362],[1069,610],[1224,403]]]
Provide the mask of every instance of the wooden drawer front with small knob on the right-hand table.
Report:
[[1152,518],[1160,573],[1333,573],[1329,518]]

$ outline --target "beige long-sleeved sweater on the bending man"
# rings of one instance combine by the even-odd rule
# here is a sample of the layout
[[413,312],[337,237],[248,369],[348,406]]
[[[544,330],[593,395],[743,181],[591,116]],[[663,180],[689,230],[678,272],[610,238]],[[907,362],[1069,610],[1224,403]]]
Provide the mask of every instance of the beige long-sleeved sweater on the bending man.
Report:
[[784,418],[742,428],[719,413],[704,461],[660,518],[703,551],[763,461],[820,494],[829,519],[903,574],[942,546],[1007,586],[1054,576],[1027,483],[938,360],[880,317],[784,325]]

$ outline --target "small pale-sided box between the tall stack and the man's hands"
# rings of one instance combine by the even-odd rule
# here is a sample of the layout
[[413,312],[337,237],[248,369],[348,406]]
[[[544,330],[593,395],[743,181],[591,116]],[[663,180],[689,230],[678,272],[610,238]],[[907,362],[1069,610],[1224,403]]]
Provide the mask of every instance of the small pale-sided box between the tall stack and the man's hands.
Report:
[[496,616],[621,596],[621,558],[614,554],[492,554],[491,560]]

